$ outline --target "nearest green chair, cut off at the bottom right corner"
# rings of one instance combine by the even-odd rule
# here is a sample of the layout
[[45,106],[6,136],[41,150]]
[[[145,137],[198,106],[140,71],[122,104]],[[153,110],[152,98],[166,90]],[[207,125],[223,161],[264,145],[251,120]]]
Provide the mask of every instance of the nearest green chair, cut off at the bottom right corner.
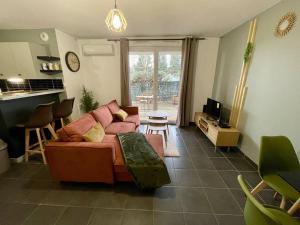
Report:
[[244,208],[246,225],[300,225],[282,209],[259,203],[248,190],[242,175],[238,176],[238,181],[247,197]]

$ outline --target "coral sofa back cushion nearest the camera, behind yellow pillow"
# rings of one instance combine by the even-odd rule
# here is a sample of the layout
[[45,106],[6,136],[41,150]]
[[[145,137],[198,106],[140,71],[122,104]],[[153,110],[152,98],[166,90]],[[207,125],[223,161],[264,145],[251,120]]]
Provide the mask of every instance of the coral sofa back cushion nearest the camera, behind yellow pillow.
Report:
[[96,120],[90,114],[83,115],[80,119],[64,126],[57,131],[60,141],[83,141],[83,134],[96,125]]

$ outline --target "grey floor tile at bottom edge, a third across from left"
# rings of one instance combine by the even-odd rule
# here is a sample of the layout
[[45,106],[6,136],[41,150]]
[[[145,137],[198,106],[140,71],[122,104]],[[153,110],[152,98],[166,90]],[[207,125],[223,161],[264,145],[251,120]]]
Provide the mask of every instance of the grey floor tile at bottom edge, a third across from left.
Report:
[[94,209],[89,225],[121,225],[123,210]]

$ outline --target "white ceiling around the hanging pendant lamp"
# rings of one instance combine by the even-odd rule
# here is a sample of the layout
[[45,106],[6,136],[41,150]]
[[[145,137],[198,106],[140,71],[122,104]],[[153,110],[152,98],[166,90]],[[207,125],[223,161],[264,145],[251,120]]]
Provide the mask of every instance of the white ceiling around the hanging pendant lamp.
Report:
[[[280,0],[118,0],[122,36],[219,37]],[[0,29],[57,28],[76,37],[113,37],[105,17],[113,0],[0,0]]]

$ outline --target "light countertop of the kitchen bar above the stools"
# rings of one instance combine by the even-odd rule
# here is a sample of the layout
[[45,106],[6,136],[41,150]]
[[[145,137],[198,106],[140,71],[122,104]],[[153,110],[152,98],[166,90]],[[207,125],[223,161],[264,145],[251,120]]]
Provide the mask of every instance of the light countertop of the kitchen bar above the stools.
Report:
[[64,92],[64,89],[48,89],[40,91],[11,91],[11,92],[2,92],[0,94],[0,101],[8,101],[20,98],[28,98],[40,95],[49,95],[49,94],[59,94]]

